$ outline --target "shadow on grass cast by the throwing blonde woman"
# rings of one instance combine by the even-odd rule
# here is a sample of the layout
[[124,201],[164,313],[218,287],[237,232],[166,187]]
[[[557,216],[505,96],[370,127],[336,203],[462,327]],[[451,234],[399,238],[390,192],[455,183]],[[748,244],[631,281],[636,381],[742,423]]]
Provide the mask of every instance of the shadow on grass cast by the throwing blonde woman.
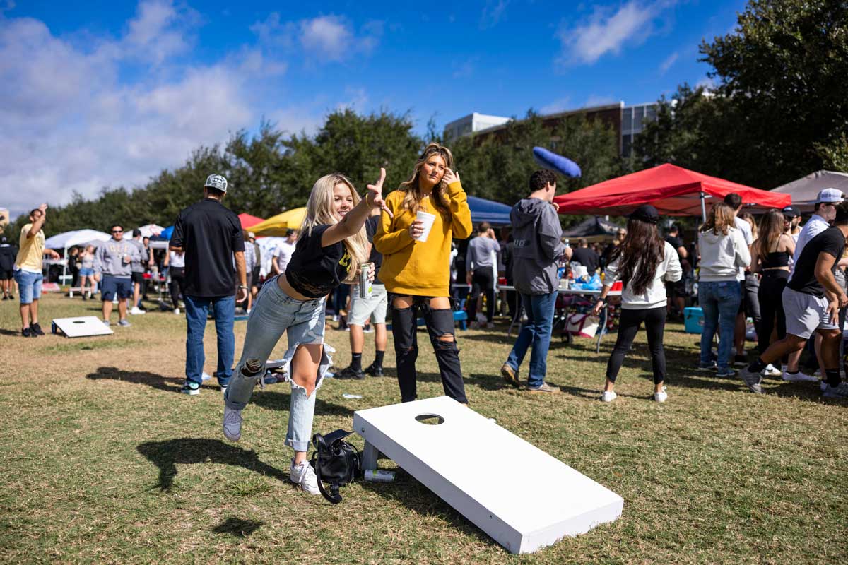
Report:
[[154,488],[170,490],[176,477],[176,464],[224,463],[236,465],[259,474],[286,481],[288,475],[259,461],[255,451],[231,446],[221,440],[180,438],[177,440],[148,441],[136,447],[139,453],[159,467],[159,484]]

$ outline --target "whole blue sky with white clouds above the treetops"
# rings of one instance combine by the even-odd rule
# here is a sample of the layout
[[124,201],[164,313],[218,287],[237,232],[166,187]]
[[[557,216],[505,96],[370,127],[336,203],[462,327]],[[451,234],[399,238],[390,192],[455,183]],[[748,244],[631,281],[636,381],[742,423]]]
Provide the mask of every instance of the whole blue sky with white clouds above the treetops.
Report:
[[0,207],[142,185],[263,117],[312,132],[337,108],[388,108],[424,133],[650,102],[706,80],[698,45],[744,6],[0,0]]

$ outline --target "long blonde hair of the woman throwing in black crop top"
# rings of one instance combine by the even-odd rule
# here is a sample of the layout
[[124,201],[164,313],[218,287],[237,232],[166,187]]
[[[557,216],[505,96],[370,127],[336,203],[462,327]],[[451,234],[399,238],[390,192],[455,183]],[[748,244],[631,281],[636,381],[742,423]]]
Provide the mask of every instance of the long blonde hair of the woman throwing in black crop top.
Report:
[[[315,180],[315,185],[312,186],[310,199],[306,202],[306,215],[304,216],[304,223],[300,225],[298,239],[303,237],[304,234],[312,235],[312,228],[316,225],[338,224],[338,219],[333,215],[332,208],[333,189],[339,183],[348,186],[350,189],[350,194],[354,198],[354,206],[359,204],[360,195],[357,194],[354,183],[350,182],[348,177],[341,173],[325,174],[320,179]],[[352,283],[356,281],[356,269],[359,264],[368,260],[368,254],[365,252],[368,246],[365,225],[342,242],[351,257],[348,276],[344,278],[343,282]]]

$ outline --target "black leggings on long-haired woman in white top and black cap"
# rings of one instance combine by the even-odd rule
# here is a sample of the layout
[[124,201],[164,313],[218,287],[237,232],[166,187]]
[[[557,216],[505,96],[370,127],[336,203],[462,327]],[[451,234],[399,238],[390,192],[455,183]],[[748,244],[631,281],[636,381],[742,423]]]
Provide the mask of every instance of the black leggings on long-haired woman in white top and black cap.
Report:
[[662,332],[666,329],[666,307],[648,310],[622,308],[622,316],[618,319],[616,346],[612,348],[612,355],[606,363],[606,378],[612,382],[616,382],[618,371],[624,363],[624,356],[630,351],[633,338],[636,337],[642,322],[644,322],[645,333],[648,334],[650,361],[654,368],[654,384],[658,385],[666,379],[666,352],[662,349]]

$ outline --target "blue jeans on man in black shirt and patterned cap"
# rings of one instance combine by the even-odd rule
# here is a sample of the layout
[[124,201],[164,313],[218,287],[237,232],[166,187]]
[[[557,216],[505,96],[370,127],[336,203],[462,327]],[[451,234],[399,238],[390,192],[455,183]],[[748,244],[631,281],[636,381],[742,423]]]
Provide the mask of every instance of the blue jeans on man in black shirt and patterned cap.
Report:
[[183,296],[186,303],[186,382],[200,385],[204,371],[204,330],[209,307],[215,317],[218,335],[218,384],[226,386],[232,377],[232,357],[236,354],[236,335],[232,332],[236,316],[236,296]]

